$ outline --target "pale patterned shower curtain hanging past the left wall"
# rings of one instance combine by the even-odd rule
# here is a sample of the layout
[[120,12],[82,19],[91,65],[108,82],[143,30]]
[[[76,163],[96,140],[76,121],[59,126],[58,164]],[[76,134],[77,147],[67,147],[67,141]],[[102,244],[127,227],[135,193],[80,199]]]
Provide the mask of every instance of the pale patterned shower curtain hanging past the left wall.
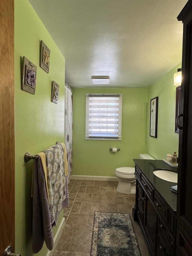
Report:
[[64,120],[64,143],[67,151],[68,183],[72,174],[72,139],[73,139],[73,106],[72,90],[65,84],[65,120]]

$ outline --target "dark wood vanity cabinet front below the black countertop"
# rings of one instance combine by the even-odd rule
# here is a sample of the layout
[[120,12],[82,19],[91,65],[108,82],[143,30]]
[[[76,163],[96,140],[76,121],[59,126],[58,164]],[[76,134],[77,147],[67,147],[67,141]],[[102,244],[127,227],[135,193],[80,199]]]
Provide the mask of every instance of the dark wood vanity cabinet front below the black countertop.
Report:
[[136,165],[136,203],[134,220],[139,220],[151,254],[175,256],[176,215],[153,184]]

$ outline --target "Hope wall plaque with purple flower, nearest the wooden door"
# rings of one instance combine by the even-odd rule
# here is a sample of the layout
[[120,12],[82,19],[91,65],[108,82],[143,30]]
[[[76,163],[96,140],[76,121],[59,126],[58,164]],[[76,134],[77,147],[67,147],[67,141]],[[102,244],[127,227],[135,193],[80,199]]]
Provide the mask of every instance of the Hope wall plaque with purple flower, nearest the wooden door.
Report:
[[25,92],[35,94],[37,67],[25,56],[23,56],[21,89]]

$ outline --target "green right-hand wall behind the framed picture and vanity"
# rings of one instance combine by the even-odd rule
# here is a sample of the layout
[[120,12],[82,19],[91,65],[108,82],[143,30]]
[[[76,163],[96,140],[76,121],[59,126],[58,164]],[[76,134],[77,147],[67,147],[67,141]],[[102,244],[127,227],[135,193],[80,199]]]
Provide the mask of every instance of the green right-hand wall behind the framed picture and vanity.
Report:
[[[176,86],[173,75],[181,63],[148,88],[146,152],[155,159],[165,159],[167,152],[177,151],[179,134],[175,133]],[[150,100],[158,96],[157,138],[149,136]]]

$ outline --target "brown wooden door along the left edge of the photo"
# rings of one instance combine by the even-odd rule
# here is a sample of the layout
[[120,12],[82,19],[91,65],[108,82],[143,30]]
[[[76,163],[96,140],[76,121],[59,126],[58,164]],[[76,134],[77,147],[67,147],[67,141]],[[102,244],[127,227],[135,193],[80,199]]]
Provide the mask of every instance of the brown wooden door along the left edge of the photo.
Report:
[[15,249],[14,0],[0,1],[0,255]]

